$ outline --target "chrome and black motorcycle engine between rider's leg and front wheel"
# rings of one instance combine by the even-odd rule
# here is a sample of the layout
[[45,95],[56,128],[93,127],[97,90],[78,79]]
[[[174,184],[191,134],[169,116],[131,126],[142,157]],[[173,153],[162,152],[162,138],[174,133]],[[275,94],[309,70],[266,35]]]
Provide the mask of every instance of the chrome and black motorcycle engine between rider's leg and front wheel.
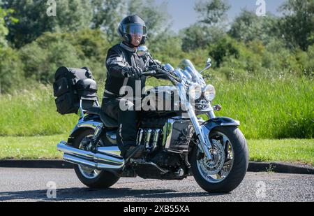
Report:
[[[146,117],[140,122],[137,145],[144,145],[145,153],[144,161],[133,164],[135,173],[141,178],[186,178],[188,166],[185,157],[194,134],[190,120],[181,117]],[[115,131],[107,132],[107,140],[110,143],[116,141]],[[125,175],[129,176],[133,176],[133,173]]]

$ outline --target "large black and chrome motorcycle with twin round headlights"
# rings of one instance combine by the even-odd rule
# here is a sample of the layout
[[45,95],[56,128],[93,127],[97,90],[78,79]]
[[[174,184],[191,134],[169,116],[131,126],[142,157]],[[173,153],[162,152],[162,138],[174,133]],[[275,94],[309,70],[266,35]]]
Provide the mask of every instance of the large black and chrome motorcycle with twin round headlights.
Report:
[[[144,46],[137,53],[150,57]],[[248,147],[240,122],[214,113],[221,109],[211,105],[216,90],[201,75],[210,67],[210,59],[200,72],[184,60],[177,69],[166,64],[163,69],[154,66],[143,73],[153,77],[163,74],[173,86],[155,87],[142,96],[142,101],[151,101],[154,108],[142,111],[138,124],[136,143],[145,148],[140,159],[120,156],[118,123],[101,110],[98,101],[96,107],[84,110],[82,99],[80,120],[68,142],[61,141],[57,150],[63,152],[64,161],[73,164],[87,187],[108,188],[119,178],[184,180],[193,175],[207,192],[231,192],[246,175]],[[167,110],[165,101],[170,102]],[[163,109],[156,108],[160,104]],[[199,117],[204,114],[209,120]]]

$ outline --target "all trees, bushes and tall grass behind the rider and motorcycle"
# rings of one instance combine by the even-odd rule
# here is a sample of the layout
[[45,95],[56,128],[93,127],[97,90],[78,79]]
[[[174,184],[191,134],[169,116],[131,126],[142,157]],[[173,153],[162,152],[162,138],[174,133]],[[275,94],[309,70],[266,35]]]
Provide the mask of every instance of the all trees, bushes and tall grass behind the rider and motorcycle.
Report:
[[[54,72],[88,66],[101,98],[117,24],[137,13],[147,21],[151,54],[163,64],[190,59],[203,69],[213,59],[204,76],[216,86],[215,102],[224,107],[219,115],[241,120],[248,138],[313,138],[312,1],[287,1],[282,17],[243,10],[228,32],[226,1],[202,1],[195,6],[202,23],[179,34],[168,31],[166,5],[152,0],[59,0],[57,17],[47,16],[45,3],[0,0],[0,136],[68,134],[77,117],[57,114]],[[170,83],[149,79],[148,85]]]

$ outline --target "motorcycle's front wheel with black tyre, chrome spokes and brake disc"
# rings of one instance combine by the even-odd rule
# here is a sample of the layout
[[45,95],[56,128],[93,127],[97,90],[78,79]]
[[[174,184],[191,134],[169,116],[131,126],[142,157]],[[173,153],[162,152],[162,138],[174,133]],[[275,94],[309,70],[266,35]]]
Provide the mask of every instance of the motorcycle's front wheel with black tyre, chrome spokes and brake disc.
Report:
[[248,169],[246,139],[237,127],[216,127],[209,134],[209,140],[212,161],[207,161],[197,145],[193,147],[190,162],[194,178],[207,192],[232,192]]

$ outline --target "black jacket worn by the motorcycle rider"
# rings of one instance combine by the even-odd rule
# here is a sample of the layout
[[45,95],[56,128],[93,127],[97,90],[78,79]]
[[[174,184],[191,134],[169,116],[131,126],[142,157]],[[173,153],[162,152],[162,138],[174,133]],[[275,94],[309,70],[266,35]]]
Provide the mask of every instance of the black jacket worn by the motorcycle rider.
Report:
[[[125,43],[114,45],[108,50],[106,59],[107,80],[105,82],[104,96],[124,96],[125,90],[121,90],[121,88],[125,86],[131,87],[133,92],[135,92],[135,85],[138,85],[139,82],[135,82],[135,78],[125,78],[122,74],[122,69],[126,66],[138,66],[144,70],[146,66],[151,66],[151,64],[154,64],[154,62],[147,57],[139,57],[136,50],[130,48]],[[142,91],[146,78],[143,76],[140,80],[140,91]]]

